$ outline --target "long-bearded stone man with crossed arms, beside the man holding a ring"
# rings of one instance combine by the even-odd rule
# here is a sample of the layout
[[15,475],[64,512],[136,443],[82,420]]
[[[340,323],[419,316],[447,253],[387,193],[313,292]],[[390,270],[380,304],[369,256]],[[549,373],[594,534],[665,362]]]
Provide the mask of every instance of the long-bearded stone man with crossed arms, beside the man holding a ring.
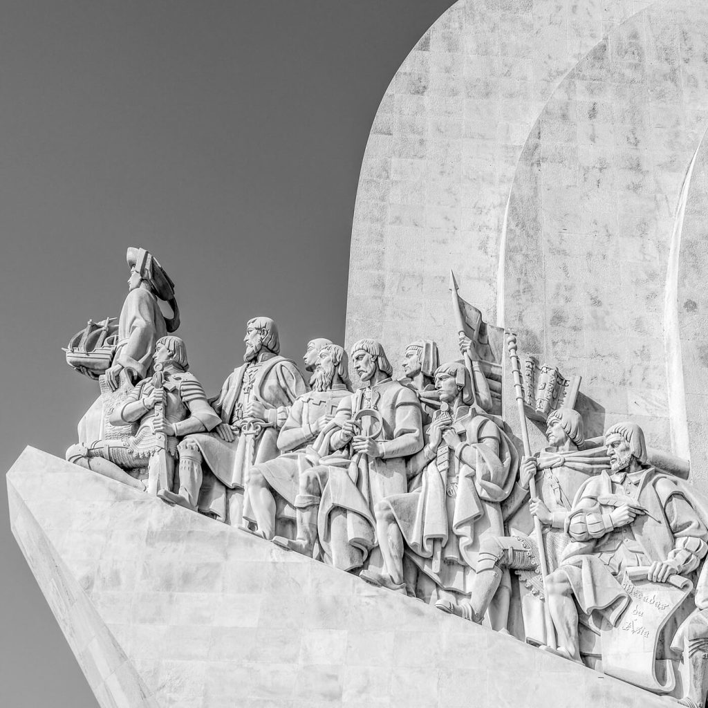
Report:
[[306,365],[313,371],[312,391],[299,396],[290,409],[278,435],[278,449],[282,454],[269,462],[256,464],[249,477],[253,518],[248,520],[256,523],[256,533],[266,539],[275,535],[276,494],[295,506],[299,476],[319,461],[319,451],[327,448],[333,432],[334,412],[340,401],[350,395],[347,353],[341,346],[322,346],[314,365],[307,361]]

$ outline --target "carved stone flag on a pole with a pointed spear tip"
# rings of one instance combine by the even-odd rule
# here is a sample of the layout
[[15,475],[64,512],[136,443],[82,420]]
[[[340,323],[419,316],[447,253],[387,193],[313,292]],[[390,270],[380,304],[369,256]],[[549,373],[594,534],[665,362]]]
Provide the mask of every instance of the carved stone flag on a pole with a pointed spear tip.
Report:
[[501,416],[501,377],[504,361],[504,329],[484,321],[479,309],[459,296],[455,273],[450,270],[452,314],[457,332],[472,340],[479,365],[489,383],[493,415]]

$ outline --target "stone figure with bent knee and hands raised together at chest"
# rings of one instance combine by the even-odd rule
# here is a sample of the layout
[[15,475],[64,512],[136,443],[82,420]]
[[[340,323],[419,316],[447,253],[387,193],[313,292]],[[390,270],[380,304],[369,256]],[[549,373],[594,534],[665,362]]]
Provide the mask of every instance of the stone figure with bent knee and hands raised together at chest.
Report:
[[435,583],[430,602],[469,615],[469,591],[479,547],[503,534],[501,502],[517,469],[505,433],[476,405],[469,371],[450,362],[435,372],[440,411],[423,450],[409,459],[413,491],[387,496],[375,507],[385,571],[362,578],[392,590],[404,586],[404,543],[413,562]]

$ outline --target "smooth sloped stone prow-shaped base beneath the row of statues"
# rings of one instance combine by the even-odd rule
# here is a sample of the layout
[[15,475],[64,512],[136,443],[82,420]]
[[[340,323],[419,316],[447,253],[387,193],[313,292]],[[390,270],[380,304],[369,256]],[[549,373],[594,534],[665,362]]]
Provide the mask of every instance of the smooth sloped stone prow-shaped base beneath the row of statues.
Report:
[[7,479],[103,708],[667,705],[40,450]]

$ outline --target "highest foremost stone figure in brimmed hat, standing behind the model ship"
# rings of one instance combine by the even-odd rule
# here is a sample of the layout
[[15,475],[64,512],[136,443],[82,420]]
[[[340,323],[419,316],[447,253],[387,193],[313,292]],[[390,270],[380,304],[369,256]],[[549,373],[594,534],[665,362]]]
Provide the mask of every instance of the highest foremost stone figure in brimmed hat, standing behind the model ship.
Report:
[[[174,283],[157,259],[145,249],[127,251],[130,265],[128,294],[118,318],[118,346],[113,363],[105,372],[112,391],[118,388],[120,373],[125,371],[131,382],[152,373],[152,355],[156,342],[180,324]],[[159,300],[169,303],[173,317],[164,318]]]

